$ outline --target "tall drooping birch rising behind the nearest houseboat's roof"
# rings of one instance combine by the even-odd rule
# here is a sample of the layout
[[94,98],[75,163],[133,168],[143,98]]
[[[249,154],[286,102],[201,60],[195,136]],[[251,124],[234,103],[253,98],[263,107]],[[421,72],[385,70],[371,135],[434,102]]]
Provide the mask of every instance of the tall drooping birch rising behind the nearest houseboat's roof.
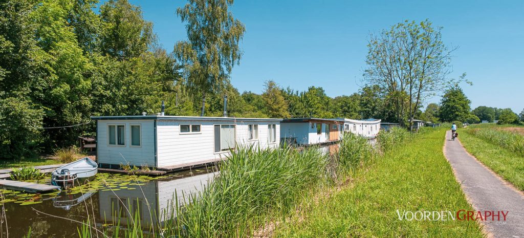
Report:
[[242,57],[238,42],[245,27],[228,10],[232,5],[233,0],[190,0],[177,9],[182,22],[187,22],[188,41],[177,42],[174,52],[185,66],[188,89],[202,96],[201,116],[206,94],[227,85],[233,66]]

